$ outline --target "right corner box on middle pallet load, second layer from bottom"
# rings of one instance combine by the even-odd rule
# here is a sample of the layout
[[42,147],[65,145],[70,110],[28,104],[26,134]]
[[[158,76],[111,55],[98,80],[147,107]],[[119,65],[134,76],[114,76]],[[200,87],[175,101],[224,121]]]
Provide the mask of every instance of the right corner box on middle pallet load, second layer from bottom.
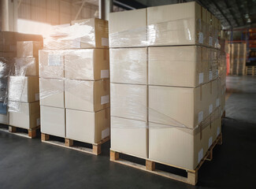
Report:
[[109,80],[65,80],[65,108],[97,112],[109,106]]

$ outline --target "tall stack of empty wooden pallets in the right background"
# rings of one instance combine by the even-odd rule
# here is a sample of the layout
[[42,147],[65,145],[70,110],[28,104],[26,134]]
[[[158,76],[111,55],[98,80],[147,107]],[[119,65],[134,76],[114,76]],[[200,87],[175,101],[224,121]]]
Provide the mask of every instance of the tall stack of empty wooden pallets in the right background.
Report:
[[245,76],[247,61],[247,44],[232,43],[230,55],[230,74]]

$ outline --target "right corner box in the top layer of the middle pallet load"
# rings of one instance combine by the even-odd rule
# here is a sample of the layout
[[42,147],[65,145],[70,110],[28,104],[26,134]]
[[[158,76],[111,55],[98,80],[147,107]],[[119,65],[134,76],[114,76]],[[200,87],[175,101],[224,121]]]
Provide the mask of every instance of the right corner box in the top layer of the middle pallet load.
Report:
[[98,18],[73,20],[72,47],[73,48],[108,48],[109,28],[108,21]]

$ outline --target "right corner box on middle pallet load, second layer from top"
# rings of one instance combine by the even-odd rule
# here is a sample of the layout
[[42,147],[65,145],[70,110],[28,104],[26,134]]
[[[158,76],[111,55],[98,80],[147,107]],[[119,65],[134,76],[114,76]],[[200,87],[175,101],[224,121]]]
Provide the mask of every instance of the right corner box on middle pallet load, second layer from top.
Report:
[[69,50],[65,53],[65,78],[101,80],[109,78],[109,50]]

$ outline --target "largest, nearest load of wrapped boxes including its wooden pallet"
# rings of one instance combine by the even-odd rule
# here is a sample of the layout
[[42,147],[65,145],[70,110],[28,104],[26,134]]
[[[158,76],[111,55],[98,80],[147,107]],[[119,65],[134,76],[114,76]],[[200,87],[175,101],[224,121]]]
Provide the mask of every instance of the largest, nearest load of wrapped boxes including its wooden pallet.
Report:
[[[222,139],[219,31],[196,2],[110,13],[111,161],[197,182]],[[187,178],[158,171],[155,162],[184,169]]]

